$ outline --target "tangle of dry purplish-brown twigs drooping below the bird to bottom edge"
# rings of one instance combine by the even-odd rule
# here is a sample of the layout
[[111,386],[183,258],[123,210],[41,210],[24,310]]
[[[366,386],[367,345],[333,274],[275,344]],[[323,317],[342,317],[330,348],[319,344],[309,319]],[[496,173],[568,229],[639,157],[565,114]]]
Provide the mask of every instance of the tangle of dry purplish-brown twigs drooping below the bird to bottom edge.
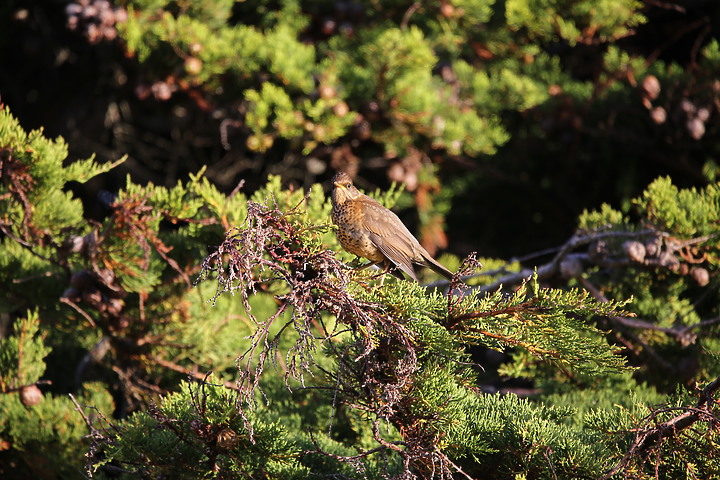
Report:
[[[333,405],[361,410],[374,418],[373,438],[378,444],[358,455],[338,456],[323,451],[315,442],[315,450],[306,454],[326,455],[362,472],[365,457],[392,451],[403,459],[402,478],[417,478],[415,474],[423,472],[436,472],[439,478],[462,473],[439,450],[439,434],[427,426],[427,418],[418,416],[408,397],[420,368],[421,346],[415,333],[385,305],[357,295],[358,289],[364,292],[362,289],[370,287],[353,282],[359,274],[313,241],[311,230],[316,227],[302,222],[301,206],[282,212],[248,202],[245,223],[227,234],[205,260],[200,276],[200,280],[210,276],[217,280],[215,298],[225,292],[240,295],[248,317],[257,325],[249,337],[250,346],[239,359],[238,390],[243,400],[238,405],[239,415],[251,439],[252,425],[245,409],[254,408],[256,393],[261,391],[260,376],[267,361],[277,358],[279,337],[294,336],[295,344],[287,353],[286,382],[294,378],[303,383],[303,374],[324,372],[332,379],[327,388],[334,392]],[[474,268],[477,261],[472,257],[463,271]],[[453,283],[458,291],[461,274]],[[269,289],[276,292],[277,307],[267,318],[257,318],[249,299]],[[332,332],[323,320],[328,314],[337,319]],[[351,341],[332,340],[337,330],[353,332]],[[313,355],[319,344],[336,360],[336,372],[315,364]],[[381,423],[393,425],[402,439],[385,438]]]

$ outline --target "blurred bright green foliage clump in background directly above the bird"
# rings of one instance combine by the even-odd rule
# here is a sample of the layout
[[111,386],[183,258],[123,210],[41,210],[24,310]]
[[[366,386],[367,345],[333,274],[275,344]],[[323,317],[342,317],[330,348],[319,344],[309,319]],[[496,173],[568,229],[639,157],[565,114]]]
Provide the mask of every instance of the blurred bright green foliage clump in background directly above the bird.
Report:
[[343,53],[334,64],[354,103],[382,92],[379,108],[394,128],[374,130],[373,138],[393,156],[407,154],[419,137],[428,138],[432,148],[470,155],[492,153],[507,139],[496,118],[481,117],[472,109],[447,110],[456,100],[452,90],[431,75],[437,58],[419,29],[369,30],[360,41],[361,48],[354,49],[354,41],[337,39],[342,43],[332,47]]

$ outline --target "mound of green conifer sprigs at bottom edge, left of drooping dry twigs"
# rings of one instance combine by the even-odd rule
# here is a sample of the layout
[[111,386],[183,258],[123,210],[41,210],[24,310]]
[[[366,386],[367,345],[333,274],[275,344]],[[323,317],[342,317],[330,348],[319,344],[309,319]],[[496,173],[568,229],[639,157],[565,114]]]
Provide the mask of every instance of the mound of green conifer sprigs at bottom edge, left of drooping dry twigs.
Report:
[[297,447],[276,422],[251,418],[248,435],[236,408],[235,394],[213,378],[199,385],[183,382],[149,413],[131,416],[111,438],[104,439],[105,460],[134,465],[130,475],[191,479],[226,476],[305,478],[296,460]]

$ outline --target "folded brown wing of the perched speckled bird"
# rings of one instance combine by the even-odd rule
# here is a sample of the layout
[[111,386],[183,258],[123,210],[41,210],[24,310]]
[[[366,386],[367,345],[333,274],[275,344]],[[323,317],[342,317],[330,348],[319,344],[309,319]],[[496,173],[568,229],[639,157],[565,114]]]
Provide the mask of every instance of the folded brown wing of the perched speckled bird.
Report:
[[417,280],[412,267],[419,246],[415,237],[397,215],[380,203],[369,197],[356,201],[363,204],[363,227],[373,244],[400,270]]

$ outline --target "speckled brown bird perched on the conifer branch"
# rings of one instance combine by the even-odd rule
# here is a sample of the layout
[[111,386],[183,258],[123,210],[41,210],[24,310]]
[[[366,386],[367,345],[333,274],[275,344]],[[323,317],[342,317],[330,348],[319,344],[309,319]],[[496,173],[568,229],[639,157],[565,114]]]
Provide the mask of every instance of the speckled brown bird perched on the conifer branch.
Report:
[[393,212],[360,193],[345,172],[333,177],[332,219],[338,226],[340,245],[358,257],[380,264],[402,278],[396,269],[415,281],[414,265],[429,267],[450,279],[452,273],[435,261]]

